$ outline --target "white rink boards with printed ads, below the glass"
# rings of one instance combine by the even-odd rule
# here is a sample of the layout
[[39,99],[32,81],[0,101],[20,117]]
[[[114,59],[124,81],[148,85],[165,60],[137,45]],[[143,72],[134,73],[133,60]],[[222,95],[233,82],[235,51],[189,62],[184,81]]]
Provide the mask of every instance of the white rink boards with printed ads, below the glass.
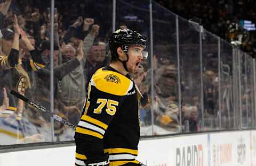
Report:
[[[74,165],[75,146],[0,153],[0,165]],[[142,139],[137,158],[148,166],[256,166],[256,131]]]

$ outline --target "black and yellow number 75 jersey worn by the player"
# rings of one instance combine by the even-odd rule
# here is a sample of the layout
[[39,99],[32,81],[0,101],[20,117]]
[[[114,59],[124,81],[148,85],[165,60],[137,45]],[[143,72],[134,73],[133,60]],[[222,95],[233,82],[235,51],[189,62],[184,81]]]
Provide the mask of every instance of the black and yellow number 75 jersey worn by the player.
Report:
[[88,85],[76,133],[76,165],[108,153],[110,165],[123,165],[138,155],[140,136],[137,90],[130,76],[106,66]]

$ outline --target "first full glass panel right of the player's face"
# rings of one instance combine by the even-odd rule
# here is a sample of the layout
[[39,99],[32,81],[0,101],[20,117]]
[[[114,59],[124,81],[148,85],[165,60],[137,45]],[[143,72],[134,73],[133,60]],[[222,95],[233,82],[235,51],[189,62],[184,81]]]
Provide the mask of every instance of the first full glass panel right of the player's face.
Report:
[[154,134],[180,132],[176,15],[153,2]]

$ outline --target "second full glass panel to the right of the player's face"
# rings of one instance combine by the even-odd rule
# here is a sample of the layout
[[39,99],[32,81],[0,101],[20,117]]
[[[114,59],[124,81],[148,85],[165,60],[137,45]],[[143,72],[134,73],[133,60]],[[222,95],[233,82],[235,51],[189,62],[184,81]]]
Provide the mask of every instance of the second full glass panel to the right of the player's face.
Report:
[[183,132],[201,127],[200,27],[179,18],[180,78]]

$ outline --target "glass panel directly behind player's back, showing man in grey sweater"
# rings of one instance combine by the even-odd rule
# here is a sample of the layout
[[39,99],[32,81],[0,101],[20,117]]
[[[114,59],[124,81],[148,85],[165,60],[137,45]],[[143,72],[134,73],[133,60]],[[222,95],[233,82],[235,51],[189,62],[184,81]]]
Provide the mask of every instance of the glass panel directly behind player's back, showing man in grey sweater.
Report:
[[[54,39],[60,54],[54,66],[54,113],[77,125],[87,83],[110,60],[108,39],[112,33],[113,1],[55,1],[55,11],[58,15],[54,20]],[[54,141],[71,141],[74,133],[54,122]]]

